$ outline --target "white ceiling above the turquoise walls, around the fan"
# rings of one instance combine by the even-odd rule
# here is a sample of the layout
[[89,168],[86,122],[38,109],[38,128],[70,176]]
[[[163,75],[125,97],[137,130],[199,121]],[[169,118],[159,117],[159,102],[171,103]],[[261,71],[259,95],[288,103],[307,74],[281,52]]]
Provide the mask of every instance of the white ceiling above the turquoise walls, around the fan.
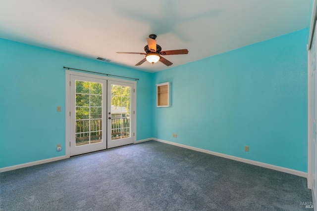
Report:
[[[157,72],[309,27],[312,0],[1,0],[0,38]],[[173,63],[134,66],[156,34]],[[102,61],[100,61],[102,62]],[[76,68],[76,67],[74,67]]]

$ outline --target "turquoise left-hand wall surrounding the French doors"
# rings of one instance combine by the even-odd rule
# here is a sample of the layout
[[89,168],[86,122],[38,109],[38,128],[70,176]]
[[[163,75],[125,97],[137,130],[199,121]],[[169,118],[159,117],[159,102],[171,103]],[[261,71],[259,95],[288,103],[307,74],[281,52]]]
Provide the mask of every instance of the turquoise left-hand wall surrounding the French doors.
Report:
[[153,74],[0,39],[0,168],[65,155],[63,66],[139,78],[137,140],[153,136]]

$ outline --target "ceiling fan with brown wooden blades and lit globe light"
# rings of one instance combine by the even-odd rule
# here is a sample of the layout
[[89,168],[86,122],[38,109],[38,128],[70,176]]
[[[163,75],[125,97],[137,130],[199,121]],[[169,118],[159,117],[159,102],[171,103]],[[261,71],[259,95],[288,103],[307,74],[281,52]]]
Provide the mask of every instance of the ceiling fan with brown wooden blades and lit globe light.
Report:
[[149,38],[147,38],[148,44],[145,45],[144,50],[145,53],[136,53],[136,52],[117,52],[117,53],[126,53],[126,54],[141,54],[145,55],[145,58],[142,59],[139,63],[137,63],[135,66],[139,66],[143,64],[145,61],[148,61],[152,64],[160,61],[166,66],[170,66],[173,63],[162,57],[161,55],[176,55],[176,54],[187,54],[187,49],[178,49],[178,50],[165,50],[161,51],[162,48],[157,44],[157,41],[155,40],[157,38],[156,35],[149,35]]

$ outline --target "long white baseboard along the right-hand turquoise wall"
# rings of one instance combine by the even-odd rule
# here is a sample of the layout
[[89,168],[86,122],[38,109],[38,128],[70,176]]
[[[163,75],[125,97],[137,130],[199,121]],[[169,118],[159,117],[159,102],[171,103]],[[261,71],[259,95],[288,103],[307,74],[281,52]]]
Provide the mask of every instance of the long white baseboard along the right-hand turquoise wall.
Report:
[[307,178],[307,173],[303,172],[303,171],[299,171],[299,170],[287,169],[287,168],[284,168],[284,167],[278,167],[278,166],[265,164],[265,163],[261,163],[261,162],[257,162],[257,161],[252,161],[252,160],[248,160],[248,159],[244,159],[244,158],[238,158],[238,157],[234,157],[234,156],[231,156],[231,155],[221,154],[221,153],[218,153],[218,152],[212,152],[212,151],[205,150],[205,149],[200,149],[200,148],[196,148],[196,147],[191,147],[191,146],[187,146],[187,145],[183,145],[183,144],[174,143],[174,142],[171,142],[171,141],[165,141],[165,140],[161,140],[161,139],[158,139],[158,138],[151,138],[151,140],[155,140],[155,141],[159,141],[159,142],[166,143],[166,144],[171,144],[171,145],[178,146],[178,147],[183,147],[183,148],[186,148],[186,149],[195,150],[195,151],[198,151],[198,152],[203,152],[203,153],[215,155],[215,156],[222,157],[222,158],[227,158],[227,159],[231,159],[231,160],[235,160],[235,161],[239,161],[239,162],[243,162],[243,163],[247,163],[247,164],[251,164],[251,165],[255,165],[255,166],[259,166],[259,167],[264,167],[264,168],[267,168],[267,169],[278,170],[278,171],[282,171],[282,172],[285,172],[285,173],[290,173],[290,174],[294,174],[294,175],[297,175],[297,176],[302,176],[302,177]]

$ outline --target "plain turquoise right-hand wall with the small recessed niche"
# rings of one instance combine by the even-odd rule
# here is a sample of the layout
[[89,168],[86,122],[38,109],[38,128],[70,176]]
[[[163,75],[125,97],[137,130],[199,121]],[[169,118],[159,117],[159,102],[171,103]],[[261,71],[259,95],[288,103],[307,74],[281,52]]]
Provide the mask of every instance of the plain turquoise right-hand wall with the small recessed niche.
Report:
[[154,137],[307,172],[307,42],[304,29],[155,73],[171,107],[153,90]]

